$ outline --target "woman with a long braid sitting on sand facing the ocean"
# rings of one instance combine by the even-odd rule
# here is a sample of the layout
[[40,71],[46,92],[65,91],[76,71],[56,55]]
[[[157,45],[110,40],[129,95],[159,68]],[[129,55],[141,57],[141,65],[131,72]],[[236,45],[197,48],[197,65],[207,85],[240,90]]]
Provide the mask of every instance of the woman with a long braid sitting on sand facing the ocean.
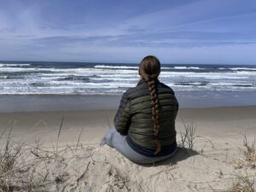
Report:
[[115,129],[102,138],[129,160],[145,164],[166,160],[177,149],[174,91],[160,83],[160,61],[148,55],[141,61],[136,87],[126,90],[114,118]]

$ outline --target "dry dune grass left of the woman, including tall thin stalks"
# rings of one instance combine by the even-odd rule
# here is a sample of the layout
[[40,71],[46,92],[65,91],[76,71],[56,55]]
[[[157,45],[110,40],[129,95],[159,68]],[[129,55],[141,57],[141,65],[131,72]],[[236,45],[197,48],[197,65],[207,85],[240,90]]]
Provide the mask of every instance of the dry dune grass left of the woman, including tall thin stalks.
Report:
[[[67,144],[67,147],[59,145],[63,121],[64,117],[61,118],[52,149],[42,147],[39,139],[32,145],[15,142],[11,137],[12,127],[9,132],[6,128],[0,134],[0,192],[48,192],[52,191],[52,186],[61,181],[61,176],[53,177],[49,166],[63,161],[67,154],[71,154],[68,155],[71,160],[79,150],[84,149],[79,145],[83,128],[79,131],[76,145]],[[43,171],[37,169],[39,165],[44,165]]]

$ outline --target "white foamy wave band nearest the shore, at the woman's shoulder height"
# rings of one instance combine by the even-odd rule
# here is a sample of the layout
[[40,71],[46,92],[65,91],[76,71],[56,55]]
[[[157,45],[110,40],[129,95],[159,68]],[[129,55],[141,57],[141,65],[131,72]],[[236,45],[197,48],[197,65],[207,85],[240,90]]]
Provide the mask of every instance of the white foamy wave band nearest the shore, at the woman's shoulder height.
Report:
[[[110,95],[122,93],[127,90],[129,87],[135,86],[136,84],[89,84],[84,87],[83,84],[42,84],[42,83],[32,83],[29,86],[19,86],[19,87],[1,87],[0,95],[6,94],[20,94],[20,95],[29,95],[29,94],[63,94],[70,95],[73,93],[79,93],[81,95],[87,94],[106,94]],[[172,87],[174,90],[255,90],[255,84],[167,84]]]

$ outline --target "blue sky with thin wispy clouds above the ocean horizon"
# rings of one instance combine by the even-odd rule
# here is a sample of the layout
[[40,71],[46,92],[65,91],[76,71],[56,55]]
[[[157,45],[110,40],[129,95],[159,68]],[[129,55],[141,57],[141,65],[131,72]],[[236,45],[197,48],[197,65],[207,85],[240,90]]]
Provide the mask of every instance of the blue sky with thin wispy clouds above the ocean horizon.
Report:
[[255,0],[0,0],[0,60],[256,65]]

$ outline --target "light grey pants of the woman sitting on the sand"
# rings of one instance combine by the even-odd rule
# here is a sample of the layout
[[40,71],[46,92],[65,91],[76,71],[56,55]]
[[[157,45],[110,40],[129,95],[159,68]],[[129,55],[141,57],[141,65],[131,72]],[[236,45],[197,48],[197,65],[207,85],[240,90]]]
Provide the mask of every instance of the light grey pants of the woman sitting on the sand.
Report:
[[102,138],[101,146],[107,144],[112,148],[116,148],[120,154],[123,154],[127,159],[137,164],[155,163],[161,160],[166,160],[172,157],[176,153],[176,150],[172,154],[160,157],[147,157],[143,154],[138,154],[137,151],[132,149],[128,143],[126,143],[126,136],[121,136],[118,131],[111,128],[106,135]]

